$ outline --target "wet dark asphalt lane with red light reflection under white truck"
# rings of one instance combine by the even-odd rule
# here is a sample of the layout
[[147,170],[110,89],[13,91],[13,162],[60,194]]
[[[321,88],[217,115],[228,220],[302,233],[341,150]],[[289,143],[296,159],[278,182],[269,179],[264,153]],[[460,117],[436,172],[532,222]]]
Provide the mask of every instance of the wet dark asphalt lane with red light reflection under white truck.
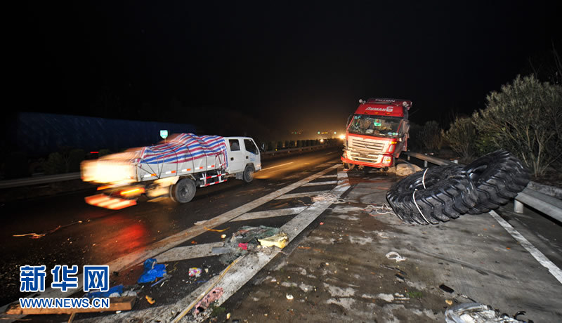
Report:
[[[341,149],[264,161],[263,171],[250,184],[230,179],[227,183],[199,188],[192,202],[176,204],[170,199],[148,202],[112,211],[90,206],[84,197],[95,188],[51,197],[6,202],[1,206],[0,246],[2,262],[0,305],[25,296],[19,292],[22,265],[100,265],[130,253],[143,251],[153,242],[213,218],[310,175],[314,166],[337,162]],[[31,234],[44,235],[41,237]],[[21,235],[15,237],[14,235]],[[204,240],[204,237],[198,238]],[[199,241],[198,243],[203,243]],[[46,286],[50,286],[50,275]]]

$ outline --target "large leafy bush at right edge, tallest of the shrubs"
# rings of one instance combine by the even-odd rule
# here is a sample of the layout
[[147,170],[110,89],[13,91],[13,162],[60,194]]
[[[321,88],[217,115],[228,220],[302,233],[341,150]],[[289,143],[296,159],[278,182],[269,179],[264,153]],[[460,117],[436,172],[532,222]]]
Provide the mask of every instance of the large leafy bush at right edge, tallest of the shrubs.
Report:
[[562,156],[562,86],[520,77],[487,97],[486,108],[473,114],[484,140],[516,154],[535,176]]

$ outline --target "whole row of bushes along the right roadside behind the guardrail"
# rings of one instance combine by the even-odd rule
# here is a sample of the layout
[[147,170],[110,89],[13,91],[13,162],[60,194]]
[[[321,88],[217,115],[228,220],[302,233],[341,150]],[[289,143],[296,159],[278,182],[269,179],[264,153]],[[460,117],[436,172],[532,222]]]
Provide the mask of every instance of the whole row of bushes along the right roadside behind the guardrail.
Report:
[[439,136],[438,126],[428,121],[412,127],[414,147],[436,154],[450,150],[462,163],[504,149],[521,159],[535,179],[560,178],[556,171],[562,166],[560,83],[541,82],[534,75],[517,76],[492,91],[484,109],[455,117],[448,128],[438,129]]

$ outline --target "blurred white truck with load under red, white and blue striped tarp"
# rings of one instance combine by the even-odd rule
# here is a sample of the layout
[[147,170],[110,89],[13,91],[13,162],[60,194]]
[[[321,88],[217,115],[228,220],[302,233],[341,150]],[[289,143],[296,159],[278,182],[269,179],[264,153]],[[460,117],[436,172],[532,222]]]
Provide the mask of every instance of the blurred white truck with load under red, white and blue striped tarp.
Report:
[[258,146],[248,137],[172,135],[158,145],[133,148],[81,164],[81,178],[100,184],[91,205],[123,209],[141,195],[187,203],[196,187],[236,178],[249,183],[261,170]]

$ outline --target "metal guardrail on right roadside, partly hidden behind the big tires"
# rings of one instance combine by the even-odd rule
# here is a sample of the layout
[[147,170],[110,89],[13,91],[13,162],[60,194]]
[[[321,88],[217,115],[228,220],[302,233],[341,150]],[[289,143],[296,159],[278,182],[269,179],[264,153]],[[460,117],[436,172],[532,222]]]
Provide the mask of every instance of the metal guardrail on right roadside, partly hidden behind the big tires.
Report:
[[[428,162],[440,166],[457,164],[450,160],[439,159],[426,154],[420,154],[419,152],[403,152],[403,154],[407,155],[408,160],[410,160],[410,157],[423,160],[425,167],[427,167]],[[462,166],[462,164],[459,165]],[[527,187],[515,197],[514,212],[523,213],[523,204],[525,204],[562,222],[562,200],[556,197],[557,195],[560,196],[561,192],[562,190],[558,189],[558,187],[550,187],[531,181]]]

